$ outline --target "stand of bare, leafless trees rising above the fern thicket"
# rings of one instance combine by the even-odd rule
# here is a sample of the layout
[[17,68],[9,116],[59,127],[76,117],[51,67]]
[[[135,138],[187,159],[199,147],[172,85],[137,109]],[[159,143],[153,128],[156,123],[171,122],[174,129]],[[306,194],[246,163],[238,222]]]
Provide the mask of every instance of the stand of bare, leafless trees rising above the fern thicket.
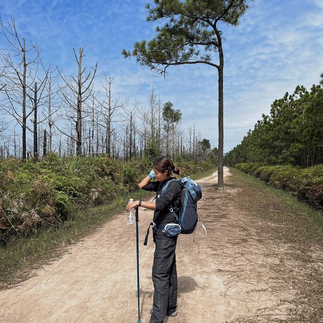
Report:
[[103,72],[94,90],[97,63],[84,65],[83,48],[74,51],[75,73],[45,67],[35,39],[20,37],[15,21],[0,17],[8,50],[0,51],[0,157],[37,159],[48,152],[130,160],[160,154],[204,160],[213,154],[192,124],[180,126],[182,112],[162,103],[155,89],[146,105],[129,106],[113,90],[114,77]]

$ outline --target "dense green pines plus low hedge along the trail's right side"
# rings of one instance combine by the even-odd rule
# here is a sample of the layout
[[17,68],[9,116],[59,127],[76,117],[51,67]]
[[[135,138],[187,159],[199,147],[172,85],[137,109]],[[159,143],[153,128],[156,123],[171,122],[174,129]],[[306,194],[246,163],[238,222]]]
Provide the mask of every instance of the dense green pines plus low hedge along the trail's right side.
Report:
[[275,100],[225,156],[236,167],[323,209],[323,74],[310,90],[296,86]]

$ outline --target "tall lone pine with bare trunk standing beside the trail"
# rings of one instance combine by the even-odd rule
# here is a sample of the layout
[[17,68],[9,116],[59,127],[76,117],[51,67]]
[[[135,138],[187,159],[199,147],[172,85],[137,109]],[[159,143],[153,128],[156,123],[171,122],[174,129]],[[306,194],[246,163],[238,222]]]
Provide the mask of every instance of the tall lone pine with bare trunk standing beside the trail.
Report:
[[[132,53],[123,50],[126,57],[152,71],[165,75],[169,66],[207,64],[218,69],[219,75],[219,152],[218,186],[223,183],[223,71],[224,53],[219,22],[236,26],[252,0],[154,0],[147,5],[147,21],[167,21],[157,28],[157,35],[149,42],[136,42]],[[213,63],[211,54],[218,52],[219,63]]]

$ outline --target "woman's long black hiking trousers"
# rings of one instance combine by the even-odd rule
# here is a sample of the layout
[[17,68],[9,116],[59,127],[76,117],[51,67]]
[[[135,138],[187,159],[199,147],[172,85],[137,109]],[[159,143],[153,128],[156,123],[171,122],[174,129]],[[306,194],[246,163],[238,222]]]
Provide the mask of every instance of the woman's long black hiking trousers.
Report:
[[176,242],[155,238],[152,265],[153,312],[150,323],[163,323],[166,314],[172,314],[177,307]]

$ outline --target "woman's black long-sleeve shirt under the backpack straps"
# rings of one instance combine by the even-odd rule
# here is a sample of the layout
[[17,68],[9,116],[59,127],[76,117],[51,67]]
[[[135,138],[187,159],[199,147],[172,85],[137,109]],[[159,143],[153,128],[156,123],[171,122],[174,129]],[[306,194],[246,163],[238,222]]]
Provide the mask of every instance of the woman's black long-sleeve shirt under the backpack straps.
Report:
[[163,182],[150,182],[142,189],[145,191],[157,192],[156,194],[156,210],[153,213],[153,222],[158,226],[165,226],[168,223],[175,223],[175,217],[169,210],[172,205],[174,212],[178,215],[181,205],[181,190],[182,186],[178,181],[172,181],[168,184],[168,187],[163,195],[161,190],[164,185],[174,179],[173,177],[168,178]]

